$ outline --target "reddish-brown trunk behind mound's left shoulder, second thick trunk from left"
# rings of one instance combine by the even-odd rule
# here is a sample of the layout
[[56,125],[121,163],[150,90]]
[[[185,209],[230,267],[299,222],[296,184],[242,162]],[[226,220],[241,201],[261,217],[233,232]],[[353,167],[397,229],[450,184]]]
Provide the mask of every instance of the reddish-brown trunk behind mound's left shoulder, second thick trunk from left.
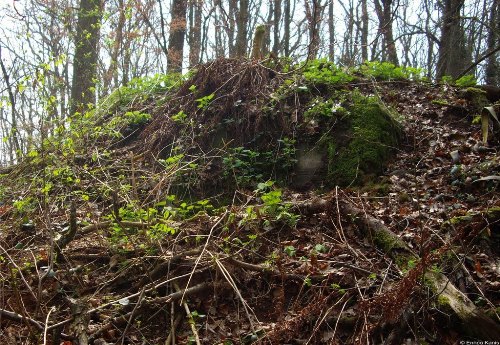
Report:
[[167,72],[182,73],[184,37],[186,35],[187,0],[172,0],[168,36]]

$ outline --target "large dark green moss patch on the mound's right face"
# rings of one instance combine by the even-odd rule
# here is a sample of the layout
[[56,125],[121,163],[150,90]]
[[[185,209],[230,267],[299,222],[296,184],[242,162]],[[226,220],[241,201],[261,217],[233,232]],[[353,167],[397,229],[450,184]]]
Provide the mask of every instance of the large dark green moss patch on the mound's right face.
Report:
[[328,180],[344,186],[382,173],[401,136],[398,123],[374,98],[353,93],[348,111],[351,133],[347,145],[341,145],[339,138],[328,145]]

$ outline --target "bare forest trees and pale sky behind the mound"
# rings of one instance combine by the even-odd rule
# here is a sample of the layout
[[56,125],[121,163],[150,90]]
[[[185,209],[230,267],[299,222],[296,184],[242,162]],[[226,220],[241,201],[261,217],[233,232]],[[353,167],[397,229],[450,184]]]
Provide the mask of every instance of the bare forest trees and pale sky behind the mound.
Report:
[[68,116],[134,78],[264,50],[339,66],[389,61],[429,79],[500,80],[494,0],[3,0],[0,159],[14,162]]

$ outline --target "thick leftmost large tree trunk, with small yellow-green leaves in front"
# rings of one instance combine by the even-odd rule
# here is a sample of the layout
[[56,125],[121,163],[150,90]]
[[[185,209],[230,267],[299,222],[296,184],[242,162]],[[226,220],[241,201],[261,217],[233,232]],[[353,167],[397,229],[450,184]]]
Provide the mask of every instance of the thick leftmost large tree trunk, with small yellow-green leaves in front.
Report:
[[103,5],[101,0],[80,0],[73,59],[71,115],[85,112],[95,103]]

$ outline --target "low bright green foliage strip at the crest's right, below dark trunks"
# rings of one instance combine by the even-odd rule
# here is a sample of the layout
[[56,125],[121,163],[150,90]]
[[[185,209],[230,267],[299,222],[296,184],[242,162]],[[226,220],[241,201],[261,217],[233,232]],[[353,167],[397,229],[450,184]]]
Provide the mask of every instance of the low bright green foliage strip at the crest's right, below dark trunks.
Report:
[[359,72],[366,77],[378,80],[422,80],[423,70],[414,67],[395,66],[390,62],[367,61],[359,67]]

